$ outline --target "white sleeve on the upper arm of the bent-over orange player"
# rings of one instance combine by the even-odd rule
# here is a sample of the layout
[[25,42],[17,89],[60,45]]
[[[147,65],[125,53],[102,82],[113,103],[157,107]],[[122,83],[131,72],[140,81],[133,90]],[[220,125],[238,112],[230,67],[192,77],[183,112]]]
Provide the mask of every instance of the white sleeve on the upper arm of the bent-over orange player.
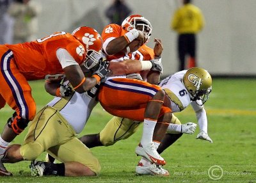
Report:
[[63,48],[58,49],[56,52],[56,56],[60,61],[62,68],[68,67],[70,65],[78,65],[76,60],[74,60],[74,58],[70,55],[70,53],[66,49],[63,49]]

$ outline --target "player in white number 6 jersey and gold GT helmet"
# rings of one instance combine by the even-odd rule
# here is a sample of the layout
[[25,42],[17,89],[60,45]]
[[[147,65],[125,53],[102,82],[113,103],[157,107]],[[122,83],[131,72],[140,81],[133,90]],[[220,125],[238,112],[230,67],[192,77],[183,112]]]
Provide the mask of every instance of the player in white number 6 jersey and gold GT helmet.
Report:
[[[172,109],[172,113],[180,112],[191,104],[200,127],[200,132],[196,138],[212,143],[212,139],[207,134],[207,116],[204,109],[204,103],[209,99],[209,93],[211,93],[211,85],[211,76],[203,68],[190,68],[189,70],[177,72],[159,83],[159,86],[170,99],[167,105]],[[99,134],[89,134],[80,139],[89,148],[113,145],[116,141],[129,138],[134,134],[139,124],[140,122],[114,117]],[[157,152],[161,154],[179,139],[182,133],[193,134],[195,128],[195,123],[190,122],[182,125],[179,119],[173,115],[172,122],[168,126],[164,139],[157,148]],[[155,146],[157,146],[157,143]],[[145,158],[142,158],[138,166],[136,166],[136,173],[139,175],[169,175],[167,170],[150,163]]]

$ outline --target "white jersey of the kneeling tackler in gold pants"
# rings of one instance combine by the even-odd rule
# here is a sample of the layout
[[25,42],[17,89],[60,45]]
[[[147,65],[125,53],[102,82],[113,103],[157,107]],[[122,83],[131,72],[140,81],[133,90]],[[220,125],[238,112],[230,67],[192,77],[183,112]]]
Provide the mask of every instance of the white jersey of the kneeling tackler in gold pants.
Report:
[[60,111],[61,115],[72,125],[74,131],[79,134],[84,129],[84,125],[92,113],[93,107],[98,103],[96,96],[97,84],[84,93],[75,92],[72,97],[55,97],[48,106],[52,106]]

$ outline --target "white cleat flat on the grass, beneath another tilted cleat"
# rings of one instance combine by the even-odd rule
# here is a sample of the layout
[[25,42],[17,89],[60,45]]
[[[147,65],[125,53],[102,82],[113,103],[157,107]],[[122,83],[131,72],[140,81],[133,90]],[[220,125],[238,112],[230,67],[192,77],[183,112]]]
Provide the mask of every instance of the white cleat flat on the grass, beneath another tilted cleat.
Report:
[[144,166],[139,163],[136,166],[136,175],[156,175],[156,176],[169,176],[169,172],[164,170],[161,165],[151,164],[150,166]]

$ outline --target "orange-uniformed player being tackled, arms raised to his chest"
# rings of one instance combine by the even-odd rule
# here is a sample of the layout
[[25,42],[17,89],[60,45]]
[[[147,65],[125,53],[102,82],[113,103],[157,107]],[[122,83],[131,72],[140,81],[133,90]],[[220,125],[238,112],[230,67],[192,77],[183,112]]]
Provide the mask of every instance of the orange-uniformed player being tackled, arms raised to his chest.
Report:
[[[140,60],[143,68],[151,69],[147,76],[158,82],[162,67],[152,68],[153,64],[146,61],[154,59],[161,63],[163,47],[161,41],[157,39],[154,40],[156,42],[154,50],[145,45],[151,31],[150,22],[141,15],[127,17],[122,26],[109,24],[102,31],[103,49],[107,54],[107,60],[116,62]],[[114,70],[110,66],[109,69]],[[142,81],[140,73],[107,77],[100,86],[99,101],[111,115],[144,121],[143,135],[140,145],[136,148],[136,154],[151,162],[165,164],[163,157],[154,147],[152,137],[156,123],[161,123],[162,127],[156,131],[158,135],[154,139],[161,141],[161,134],[166,131],[172,114],[170,109],[163,106],[165,93],[154,84]]]

